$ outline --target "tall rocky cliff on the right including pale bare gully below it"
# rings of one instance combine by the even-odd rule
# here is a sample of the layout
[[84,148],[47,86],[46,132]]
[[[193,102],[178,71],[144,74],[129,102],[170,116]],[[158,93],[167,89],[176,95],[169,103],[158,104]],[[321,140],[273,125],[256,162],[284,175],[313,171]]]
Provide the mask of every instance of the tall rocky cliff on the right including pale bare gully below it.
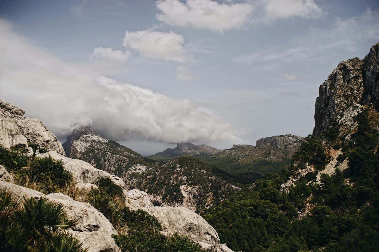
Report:
[[349,174],[349,146],[354,146],[357,142],[352,137],[358,129],[358,116],[364,112],[363,117],[368,127],[375,131],[379,129],[378,65],[379,43],[371,47],[363,60],[353,58],[342,61],[321,84],[319,96],[316,98],[313,129],[313,137],[318,139],[319,151],[318,154],[313,153],[313,156],[323,152],[319,157],[324,156],[322,160],[325,161],[316,167],[315,164],[302,162],[302,159],[295,159],[293,171],[288,181],[282,184],[282,190],[288,191],[308,173],[317,173],[315,179],[308,184],[319,183],[322,174],[332,175],[336,168],[346,170],[346,174]]

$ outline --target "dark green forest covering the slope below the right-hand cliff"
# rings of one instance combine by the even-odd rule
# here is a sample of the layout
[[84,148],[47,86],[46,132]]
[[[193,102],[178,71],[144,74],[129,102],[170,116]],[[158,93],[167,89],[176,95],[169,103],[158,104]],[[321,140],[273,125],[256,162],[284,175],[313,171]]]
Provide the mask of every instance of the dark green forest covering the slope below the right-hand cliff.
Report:
[[[320,170],[327,160],[325,146],[345,151],[349,169],[322,174],[321,185],[307,183],[315,173],[298,180],[288,193],[280,185],[293,166],[258,180],[203,217],[219,233],[221,243],[236,251],[375,251],[379,247],[379,159],[377,113],[369,108],[356,116],[358,130],[348,143],[332,129],[323,139],[309,138],[293,157]],[[337,126],[334,126],[337,128]],[[324,143],[324,144],[323,144]],[[346,177],[348,180],[346,180]],[[352,182],[349,184],[348,182]],[[305,204],[313,215],[298,216]],[[279,212],[283,211],[283,212]],[[287,213],[286,213],[287,212]]]

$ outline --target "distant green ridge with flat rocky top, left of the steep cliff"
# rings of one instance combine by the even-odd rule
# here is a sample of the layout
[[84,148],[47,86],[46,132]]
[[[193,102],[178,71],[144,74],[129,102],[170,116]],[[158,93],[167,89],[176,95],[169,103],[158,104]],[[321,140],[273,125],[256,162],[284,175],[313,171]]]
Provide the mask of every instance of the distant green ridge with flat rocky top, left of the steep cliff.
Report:
[[[180,156],[191,156],[208,163],[213,166],[213,170],[219,176],[232,184],[241,186],[241,184],[251,184],[255,180],[261,179],[264,174],[279,171],[289,165],[291,156],[304,141],[305,138],[298,135],[275,135],[258,139],[255,146],[233,145],[230,149],[218,150],[213,153],[210,151],[202,153],[180,152],[182,153]],[[181,148],[175,149],[179,152]],[[171,153],[171,151],[165,153]],[[156,160],[172,159],[161,155],[150,156],[150,158]]]

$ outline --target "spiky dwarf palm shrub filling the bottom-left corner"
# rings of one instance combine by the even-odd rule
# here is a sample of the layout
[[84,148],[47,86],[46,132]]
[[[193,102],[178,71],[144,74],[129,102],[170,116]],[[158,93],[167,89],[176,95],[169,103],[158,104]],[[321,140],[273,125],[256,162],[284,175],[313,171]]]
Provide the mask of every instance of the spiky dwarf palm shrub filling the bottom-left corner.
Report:
[[22,207],[7,190],[0,190],[0,250],[85,252],[78,238],[65,230],[77,224],[67,219],[63,205],[45,198],[27,199]]

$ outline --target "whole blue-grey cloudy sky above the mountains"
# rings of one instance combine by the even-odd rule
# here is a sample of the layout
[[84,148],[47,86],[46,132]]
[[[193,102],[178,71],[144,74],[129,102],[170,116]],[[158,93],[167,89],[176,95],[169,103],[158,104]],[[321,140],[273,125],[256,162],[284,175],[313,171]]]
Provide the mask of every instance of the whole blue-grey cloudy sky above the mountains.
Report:
[[61,142],[255,145],[311,134],[319,85],[377,42],[377,0],[0,0],[0,99]]

